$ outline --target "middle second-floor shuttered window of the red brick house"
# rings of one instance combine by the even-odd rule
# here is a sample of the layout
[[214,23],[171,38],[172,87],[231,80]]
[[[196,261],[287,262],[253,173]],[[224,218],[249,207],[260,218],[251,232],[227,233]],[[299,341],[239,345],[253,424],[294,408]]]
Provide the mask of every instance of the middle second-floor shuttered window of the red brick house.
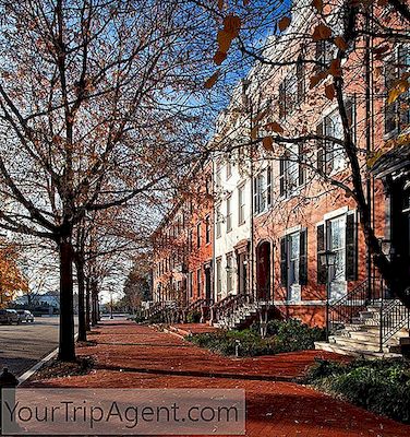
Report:
[[293,145],[287,154],[279,160],[279,193],[288,198],[297,188],[305,182],[305,168],[303,167],[302,144]]

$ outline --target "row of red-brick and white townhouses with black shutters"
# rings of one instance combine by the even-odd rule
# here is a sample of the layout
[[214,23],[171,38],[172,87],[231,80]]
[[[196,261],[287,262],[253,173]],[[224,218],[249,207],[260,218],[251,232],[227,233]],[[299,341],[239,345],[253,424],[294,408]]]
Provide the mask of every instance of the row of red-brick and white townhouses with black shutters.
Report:
[[[340,19],[340,14],[334,16]],[[291,35],[310,34],[314,20],[312,8],[298,10],[291,26],[275,37],[270,56],[278,63],[284,59],[294,62],[275,68],[255,64],[218,119],[212,142],[215,153],[208,163],[212,200],[190,222],[192,235],[198,226],[201,261],[189,262],[189,302],[206,296],[221,308],[230,296],[251,296],[284,317],[324,326],[330,304],[349,306],[349,296],[381,298],[381,282],[367,253],[358,206],[349,190],[340,188],[351,187],[351,169],[340,143],[343,127],[338,104],[325,95],[333,78],[311,81],[322,66],[328,66],[337,48],[324,40],[289,43],[294,40]],[[331,22],[331,14],[328,20],[337,35],[342,23]],[[386,142],[409,135],[409,93],[393,105],[386,102],[391,83],[410,71],[409,46],[398,45],[388,59],[373,59],[370,78],[364,74],[361,52],[358,44],[341,64],[346,116],[360,155],[360,176],[376,236],[390,259],[407,272],[405,282],[410,286],[406,144],[387,154],[373,173],[367,168],[369,156]],[[379,70],[384,74],[375,74]],[[371,105],[366,86],[375,90]],[[249,145],[272,133],[269,126],[274,125],[275,132],[284,137],[310,138]],[[206,237],[206,231],[208,246],[203,252],[203,233],[208,228],[212,237]]]

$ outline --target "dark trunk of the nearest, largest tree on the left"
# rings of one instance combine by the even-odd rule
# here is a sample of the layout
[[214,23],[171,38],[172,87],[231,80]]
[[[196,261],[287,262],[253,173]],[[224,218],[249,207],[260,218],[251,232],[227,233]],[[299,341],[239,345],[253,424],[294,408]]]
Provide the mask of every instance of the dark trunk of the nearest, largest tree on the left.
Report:
[[69,237],[58,241],[60,257],[59,359],[75,361],[73,311],[73,248]]

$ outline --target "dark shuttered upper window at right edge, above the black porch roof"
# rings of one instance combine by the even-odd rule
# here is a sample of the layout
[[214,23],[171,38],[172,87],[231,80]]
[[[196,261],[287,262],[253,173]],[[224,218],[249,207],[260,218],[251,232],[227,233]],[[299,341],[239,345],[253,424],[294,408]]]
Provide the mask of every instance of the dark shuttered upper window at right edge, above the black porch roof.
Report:
[[[395,54],[395,59],[386,62],[386,94],[391,88],[395,81],[410,72],[410,47],[399,46]],[[396,102],[385,104],[385,132],[402,132],[410,123],[410,91],[401,94]]]

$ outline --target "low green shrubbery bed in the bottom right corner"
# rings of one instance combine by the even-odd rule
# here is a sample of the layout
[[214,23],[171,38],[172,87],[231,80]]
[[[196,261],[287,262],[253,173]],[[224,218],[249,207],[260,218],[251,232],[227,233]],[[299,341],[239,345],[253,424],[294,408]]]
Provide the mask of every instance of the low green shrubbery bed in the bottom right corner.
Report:
[[317,361],[306,382],[359,406],[410,423],[410,364],[402,359]]

